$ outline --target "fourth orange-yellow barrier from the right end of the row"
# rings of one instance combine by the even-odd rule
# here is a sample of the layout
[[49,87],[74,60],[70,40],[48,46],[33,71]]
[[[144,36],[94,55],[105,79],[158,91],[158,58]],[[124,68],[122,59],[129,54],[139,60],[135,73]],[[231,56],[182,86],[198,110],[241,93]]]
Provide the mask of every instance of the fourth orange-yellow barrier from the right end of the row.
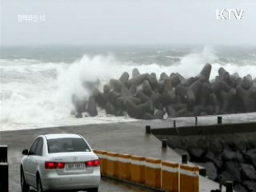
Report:
[[145,158],[132,155],[130,157],[130,181],[145,183]]

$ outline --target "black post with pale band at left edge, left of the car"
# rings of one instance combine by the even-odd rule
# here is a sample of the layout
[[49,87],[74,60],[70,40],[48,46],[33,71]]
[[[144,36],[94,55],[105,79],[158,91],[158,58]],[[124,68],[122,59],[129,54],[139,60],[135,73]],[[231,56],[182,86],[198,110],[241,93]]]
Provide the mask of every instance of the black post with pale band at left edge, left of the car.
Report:
[[8,146],[0,146],[0,192],[9,191],[9,166],[7,162]]

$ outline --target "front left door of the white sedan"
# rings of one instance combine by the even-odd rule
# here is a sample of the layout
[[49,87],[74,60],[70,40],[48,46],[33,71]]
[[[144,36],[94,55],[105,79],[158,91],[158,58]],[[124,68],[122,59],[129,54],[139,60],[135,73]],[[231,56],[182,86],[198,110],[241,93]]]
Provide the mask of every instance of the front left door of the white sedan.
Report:
[[32,172],[32,162],[34,160],[34,154],[35,154],[35,149],[36,146],[38,145],[38,138],[34,140],[34,142],[32,143],[30,150],[29,150],[29,154],[27,155],[26,159],[23,162],[23,169],[24,169],[24,174],[25,174],[25,178],[26,178],[26,182],[28,182],[30,184],[30,186],[32,186],[32,182],[33,182],[33,172]]

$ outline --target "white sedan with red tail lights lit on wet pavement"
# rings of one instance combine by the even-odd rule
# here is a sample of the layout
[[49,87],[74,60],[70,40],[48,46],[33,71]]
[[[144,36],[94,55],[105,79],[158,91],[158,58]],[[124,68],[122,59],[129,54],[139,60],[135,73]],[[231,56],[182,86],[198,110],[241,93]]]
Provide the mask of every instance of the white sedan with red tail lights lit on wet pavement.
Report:
[[99,160],[85,138],[78,134],[40,135],[30,150],[23,150],[22,192],[30,186],[39,191],[98,191]]

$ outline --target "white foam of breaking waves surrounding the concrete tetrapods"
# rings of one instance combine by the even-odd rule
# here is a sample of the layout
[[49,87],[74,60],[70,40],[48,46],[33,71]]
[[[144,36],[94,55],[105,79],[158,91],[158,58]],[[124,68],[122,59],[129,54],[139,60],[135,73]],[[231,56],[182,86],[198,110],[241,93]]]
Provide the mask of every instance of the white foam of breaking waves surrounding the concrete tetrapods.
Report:
[[[209,47],[199,53],[187,54],[172,66],[120,62],[112,54],[94,57],[84,55],[73,63],[45,63],[28,59],[1,59],[0,62],[0,130],[131,121],[133,119],[127,117],[106,117],[104,111],[95,118],[75,119],[70,116],[73,108],[71,95],[88,97],[89,93],[82,87],[82,81],[99,78],[103,85],[110,78],[119,78],[124,71],[131,74],[134,67],[141,73],[154,72],[158,77],[162,72],[178,72],[188,78],[197,75],[202,66],[209,62],[213,66],[210,78],[214,78],[218,75],[218,68],[223,65]],[[238,72],[241,76],[251,74],[256,77],[256,64],[241,66],[229,62],[224,67],[230,74]]]

